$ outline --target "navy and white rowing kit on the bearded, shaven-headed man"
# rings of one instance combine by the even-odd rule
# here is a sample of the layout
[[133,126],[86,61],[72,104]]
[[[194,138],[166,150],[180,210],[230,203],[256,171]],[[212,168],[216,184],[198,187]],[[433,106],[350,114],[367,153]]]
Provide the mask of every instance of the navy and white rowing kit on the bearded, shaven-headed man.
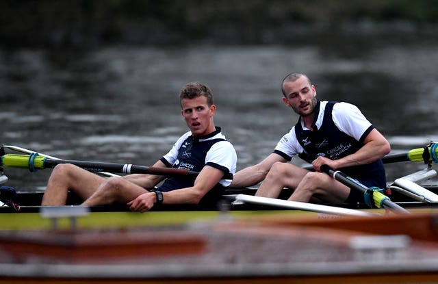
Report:
[[[318,101],[315,114],[313,131],[307,129],[300,118],[291,131],[281,138],[274,153],[288,161],[298,154],[309,163],[318,156],[340,159],[358,151],[368,133],[374,129],[361,111],[350,103]],[[343,168],[342,171],[365,185],[386,187],[381,159],[366,165]]]

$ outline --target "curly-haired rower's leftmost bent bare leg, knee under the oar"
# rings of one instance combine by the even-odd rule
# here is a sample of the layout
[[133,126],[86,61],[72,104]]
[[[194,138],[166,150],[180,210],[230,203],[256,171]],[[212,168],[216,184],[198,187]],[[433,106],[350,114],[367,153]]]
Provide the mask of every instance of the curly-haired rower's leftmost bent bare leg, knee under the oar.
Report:
[[67,201],[68,190],[80,198],[88,198],[105,179],[71,164],[59,164],[53,168],[41,205],[60,206]]

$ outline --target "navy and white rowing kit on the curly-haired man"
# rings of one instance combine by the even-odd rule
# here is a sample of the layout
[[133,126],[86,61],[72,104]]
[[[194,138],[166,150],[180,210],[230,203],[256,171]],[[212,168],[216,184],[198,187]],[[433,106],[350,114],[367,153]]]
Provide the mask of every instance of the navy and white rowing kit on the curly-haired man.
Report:
[[[205,136],[193,136],[190,131],[183,134],[173,145],[172,149],[161,159],[172,168],[182,168],[200,172],[204,166],[211,166],[224,173],[235,174],[237,154],[231,144],[216,127],[216,131]],[[159,190],[168,192],[194,185],[196,177],[169,177]],[[220,188],[231,184],[231,179],[221,179]],[[217,188],[217,187],[215,187]],[[210,190],[212,192],[214,190]],[[207,194],[208,195],[208,194]],[[208,197],[208,196],[207,196]]]

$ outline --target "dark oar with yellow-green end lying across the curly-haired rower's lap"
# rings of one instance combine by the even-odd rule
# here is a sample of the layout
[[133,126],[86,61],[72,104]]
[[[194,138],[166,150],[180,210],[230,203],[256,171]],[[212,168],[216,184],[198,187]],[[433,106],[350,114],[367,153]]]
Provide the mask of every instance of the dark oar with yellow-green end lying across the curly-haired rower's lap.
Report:
[[[75,161],[68,159],[49,159],[47,157],[41,157],[37,153],[31,155],[16,155],[6,154],[1,157],[0,166],[9,168],[29,168],[31,172],[35,170],[42,170],[44,168],[54,168],[57,164],[73,164],[84,170],[90,172],[119,172],[123,174],[150,174],[150,175],[185,175],[196,176],[199,172],[193,170],[185,170],[179,168],[159,168],[149,166],[138,166],[133,164],[117,164],[106,162],[87,162],[87,161]],[[232,179],[232,175],[226,174],[224,179]]]

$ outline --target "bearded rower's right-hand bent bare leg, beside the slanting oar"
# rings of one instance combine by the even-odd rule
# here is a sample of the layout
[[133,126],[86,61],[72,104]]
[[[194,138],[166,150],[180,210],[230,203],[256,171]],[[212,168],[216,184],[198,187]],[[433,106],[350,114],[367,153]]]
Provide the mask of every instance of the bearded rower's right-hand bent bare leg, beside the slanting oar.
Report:
[[290,201],[309,202],[312,197],[326,203],[346,201],[350,188],[322,172],[308,172],[296,187]]

